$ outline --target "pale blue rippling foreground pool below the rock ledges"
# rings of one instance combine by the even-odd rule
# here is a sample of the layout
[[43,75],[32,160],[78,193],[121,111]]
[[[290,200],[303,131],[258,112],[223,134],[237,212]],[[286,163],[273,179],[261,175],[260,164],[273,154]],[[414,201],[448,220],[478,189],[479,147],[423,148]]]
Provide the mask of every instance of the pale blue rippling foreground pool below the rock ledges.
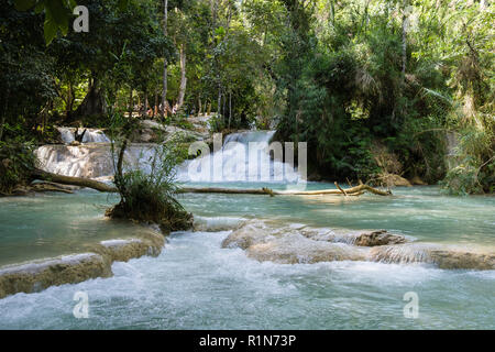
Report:
[[[453,329],[495,327],[494,272],[369,262],[274,264],[221,249],[229,232],[182,232],[114,277],[0,300],[3,329]],[[76,319],[77,292],[89,318]],[[418,319],[403,314],[417,292]],[[475,299],[473,298],[475,297]],[[470,302],[466,306],[466,302]]]

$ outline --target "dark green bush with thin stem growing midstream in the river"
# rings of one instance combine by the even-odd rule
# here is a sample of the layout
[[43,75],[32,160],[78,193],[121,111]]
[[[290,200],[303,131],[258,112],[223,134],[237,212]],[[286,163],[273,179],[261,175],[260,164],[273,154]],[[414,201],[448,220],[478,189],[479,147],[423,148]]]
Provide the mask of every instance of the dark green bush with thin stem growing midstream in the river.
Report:
[[[114,184],[121,200],[109,209],[107,215],[112,218],[157,223],[165,233],[189,229],[193,226],[193,216],[176,199],[175,169],[184,161],[180,143],[173,140],[156,145],[150,150],[141,168],[128,165],[125,170],[123,156],[135,123],[125,121],[119,114],[113,114],[110,135]],[[142,169],[144,165],[148,168],[146,172]]]

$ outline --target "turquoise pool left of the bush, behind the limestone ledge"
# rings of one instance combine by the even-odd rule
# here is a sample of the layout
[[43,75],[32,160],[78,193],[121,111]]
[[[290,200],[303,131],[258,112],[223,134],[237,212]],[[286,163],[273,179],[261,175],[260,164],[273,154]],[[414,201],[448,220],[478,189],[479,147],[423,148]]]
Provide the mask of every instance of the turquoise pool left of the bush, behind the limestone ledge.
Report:
[[94,191],[0,198],[0,265],[82,252],[142,231],[129,221],[105,218],[117,200]]

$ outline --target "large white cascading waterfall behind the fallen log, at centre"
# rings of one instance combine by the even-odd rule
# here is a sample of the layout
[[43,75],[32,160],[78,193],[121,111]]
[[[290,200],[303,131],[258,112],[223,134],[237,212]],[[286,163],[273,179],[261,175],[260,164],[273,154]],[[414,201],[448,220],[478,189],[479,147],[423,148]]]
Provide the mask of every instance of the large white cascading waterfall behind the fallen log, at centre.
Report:
[[283,145],[270,144],[274,134],[275,131],[229,134],[219,151],[185,162],[178,168],[177,179],[200,183],[295,183],[299,180],[299,175],[290,164],[282,162]]

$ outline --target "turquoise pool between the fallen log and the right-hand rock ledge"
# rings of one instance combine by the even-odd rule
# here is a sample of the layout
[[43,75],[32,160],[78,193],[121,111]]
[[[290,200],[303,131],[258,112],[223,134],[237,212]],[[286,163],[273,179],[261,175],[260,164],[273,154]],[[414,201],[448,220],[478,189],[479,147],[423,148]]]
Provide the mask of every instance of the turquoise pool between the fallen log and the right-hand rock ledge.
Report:
[[[263,185],[280,189],[275,185]],[[229,187],[263,187],[231,184]],[[310,183],[308,190],[334,188]],[[438,187],[395,188],[392,197],[194,195],[183,202],[200,216],[280,219],[345,229],[386,229],[417,240],[495,246],[495,197],[451,197]]]

